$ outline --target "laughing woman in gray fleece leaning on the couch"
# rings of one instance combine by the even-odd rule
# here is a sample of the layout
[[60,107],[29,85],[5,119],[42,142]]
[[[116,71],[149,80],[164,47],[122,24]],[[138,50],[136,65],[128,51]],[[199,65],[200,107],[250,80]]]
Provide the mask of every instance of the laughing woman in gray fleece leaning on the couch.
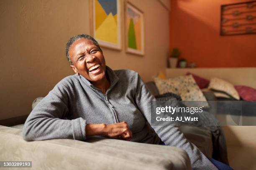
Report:
[[133,142],[171,145],[187,151],[195,169],[216,169],[175,126],[152,127],[151,100],[137,72],[111,70],[97,41],[89,35],[72,37],[66,47],[75,74],[65,77],[33,109],[23,138],[86,140],[105,135]]

